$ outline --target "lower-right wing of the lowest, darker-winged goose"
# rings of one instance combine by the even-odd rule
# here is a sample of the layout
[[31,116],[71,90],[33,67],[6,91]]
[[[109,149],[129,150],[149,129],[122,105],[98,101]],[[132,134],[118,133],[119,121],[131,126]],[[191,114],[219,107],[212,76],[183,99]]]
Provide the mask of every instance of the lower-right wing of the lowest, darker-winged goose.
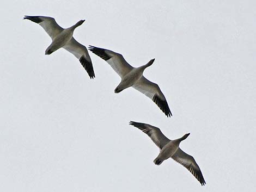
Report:
[[174,153],[172,158],[180,163],[181,165],[185,166],[188,171],[193,174],[194,177],[201,183],[201,185],[205,185],[203,174],[194,158],[190,156],[189,154],[182,151],[180,148]]

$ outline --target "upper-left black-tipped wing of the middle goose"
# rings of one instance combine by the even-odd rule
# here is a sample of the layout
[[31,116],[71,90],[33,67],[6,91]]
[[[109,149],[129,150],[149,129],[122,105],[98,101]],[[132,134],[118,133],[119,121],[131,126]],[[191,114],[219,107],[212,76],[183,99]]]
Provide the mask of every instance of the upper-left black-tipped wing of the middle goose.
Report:
[[89,46],[89,50],[107,61],[107,63],[113,68],[115,72],[118,73],[121,78],[123,78],[133,69],[133,67],[126,62],[123,55],[119,53],[94,46]]

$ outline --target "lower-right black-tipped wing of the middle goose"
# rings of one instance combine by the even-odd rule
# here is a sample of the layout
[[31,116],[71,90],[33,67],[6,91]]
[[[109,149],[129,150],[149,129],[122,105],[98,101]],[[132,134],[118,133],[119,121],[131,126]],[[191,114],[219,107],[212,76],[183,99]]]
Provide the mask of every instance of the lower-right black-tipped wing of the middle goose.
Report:
[[132,87],[151,98],[167,117],[172,115],[166,98],[156,83],[150,82],[150,80],[142,76]]

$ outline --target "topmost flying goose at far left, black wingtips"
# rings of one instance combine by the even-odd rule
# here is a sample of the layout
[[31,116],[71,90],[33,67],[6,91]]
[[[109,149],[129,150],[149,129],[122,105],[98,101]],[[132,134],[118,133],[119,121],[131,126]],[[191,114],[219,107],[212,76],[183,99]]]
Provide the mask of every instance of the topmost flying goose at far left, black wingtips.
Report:
[[64,48],[79,59],[91,79],[95,77],[92,60],[90,59],[87,48],[73,38],[75,28],[81,26],[85,20],[80,20],[74,24],[74,26],[63,29],[52,17],[25,16],[23,19],[31,20],[40,24],[40,26],[44,28],[46,33],[51,37],[52,43],[47,47],[45,54],[51,54],[59,48]]

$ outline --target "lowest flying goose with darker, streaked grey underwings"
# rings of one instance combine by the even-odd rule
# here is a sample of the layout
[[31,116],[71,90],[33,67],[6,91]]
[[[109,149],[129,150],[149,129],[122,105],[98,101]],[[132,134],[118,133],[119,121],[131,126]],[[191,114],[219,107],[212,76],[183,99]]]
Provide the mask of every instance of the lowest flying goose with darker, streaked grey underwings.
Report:
[[201,183],[205,185],[203,174],[194,158],[189,154],[182,151],[179,147],[180,142],[188,137],[190,133],[185,134],[183,137],[175,140],[170,140],[164,136],[159,128],[151,126],[145,123],[139,123],[130,121],[130,125],[133,125],[144,133],[146,133],[151,140],[160,148],[159,155],[155,158],[154,163],[160,165],[164,160],[172,157],[176,162],[185,166],[188,171],[193,174],[194,177]]

